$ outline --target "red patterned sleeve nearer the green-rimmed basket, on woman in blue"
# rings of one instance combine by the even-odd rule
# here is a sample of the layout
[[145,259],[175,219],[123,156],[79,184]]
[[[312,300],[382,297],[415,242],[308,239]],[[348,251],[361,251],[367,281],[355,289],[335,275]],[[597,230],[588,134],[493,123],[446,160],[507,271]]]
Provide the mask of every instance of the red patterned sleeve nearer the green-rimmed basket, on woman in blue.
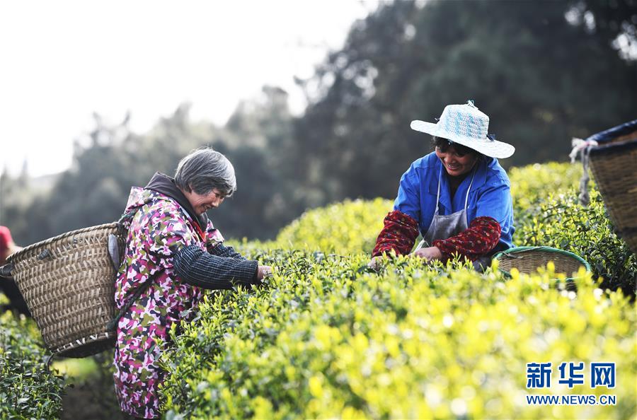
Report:
[[501,230],[500,223],[494,218],[476,217],[466,230],[449,239],[435,240],[432,246],[437,247],[446,258],[459,254],[475,261],[498,245]]

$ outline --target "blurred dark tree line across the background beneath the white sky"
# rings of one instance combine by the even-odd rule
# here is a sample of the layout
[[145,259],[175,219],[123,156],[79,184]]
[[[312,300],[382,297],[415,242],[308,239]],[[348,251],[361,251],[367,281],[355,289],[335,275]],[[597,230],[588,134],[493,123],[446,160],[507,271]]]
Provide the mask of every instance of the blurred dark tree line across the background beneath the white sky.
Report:
[[297,80],[309,105],[265,86],[224,127],[192,122],[188,105],[144,134],[127,120],[77,141],[72,167],[39,185],[4,173],[0,224],[16,243],[116,220],[132,185],[212,146],[239,191],[212,212],[226,238],[272,238],[304,209],[388,197],[430,151],[409,128],[473,99],[490,132],[515,145],[505,167],[563,160],[572,136],[637,117],[637,1],[396,1],[352,25],[342,49]]

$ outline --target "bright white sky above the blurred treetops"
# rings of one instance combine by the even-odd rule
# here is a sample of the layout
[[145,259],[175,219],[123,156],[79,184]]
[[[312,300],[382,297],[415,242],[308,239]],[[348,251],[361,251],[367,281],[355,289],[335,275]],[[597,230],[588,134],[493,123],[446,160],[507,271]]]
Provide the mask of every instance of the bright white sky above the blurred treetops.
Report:
[[180,103],[224,124],[264,84],[304,103],[293,76],[311,76],[360,0],[3,1],[0,3],[0,170],[55,173],[93,112],[144,133]]

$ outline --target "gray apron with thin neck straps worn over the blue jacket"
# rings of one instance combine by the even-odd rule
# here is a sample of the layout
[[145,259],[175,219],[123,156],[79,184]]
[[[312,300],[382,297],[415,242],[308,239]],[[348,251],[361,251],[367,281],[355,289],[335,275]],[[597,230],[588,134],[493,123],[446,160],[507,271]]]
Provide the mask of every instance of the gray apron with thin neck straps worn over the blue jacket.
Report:
[[[469,203],[469,192],[471,192],[471,187],[474,185],[475,175],[476,171],[474,170],[474,173],[471,175],[471,183],[469,184],[469,188],[466,190],[464,209],[442,216],[438,214],[438,204],[440,202],[440,180],[442,179],[442,168],[440,168],[440,174],[438,175],[438,192],[436,194],[436,211],[427,232],[423,235],[423,240],[420,241],[415,250],[430,247],[430,244],[432,244],[435,240],[449,239],[462,231],[466,231],[466,228],[469,227],[469,223],[466,221],[466,208]],[[490,265],[490,260],[490,257],[480,257],[476,260],[476,262],[474,262],[474,267],[483,271],[484,268]]]

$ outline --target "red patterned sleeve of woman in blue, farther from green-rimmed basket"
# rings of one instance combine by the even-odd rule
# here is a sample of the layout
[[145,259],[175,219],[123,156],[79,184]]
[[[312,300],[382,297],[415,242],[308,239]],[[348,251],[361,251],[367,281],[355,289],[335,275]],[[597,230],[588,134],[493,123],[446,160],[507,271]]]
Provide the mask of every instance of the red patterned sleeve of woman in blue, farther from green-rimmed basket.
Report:
[[384,219],[384,227],[376,240],[372,257],[382,255],[383,252],[394,250],[398,255],[407,255],[415,239],[418,238],[418,222],[401,211],[389,212]]

